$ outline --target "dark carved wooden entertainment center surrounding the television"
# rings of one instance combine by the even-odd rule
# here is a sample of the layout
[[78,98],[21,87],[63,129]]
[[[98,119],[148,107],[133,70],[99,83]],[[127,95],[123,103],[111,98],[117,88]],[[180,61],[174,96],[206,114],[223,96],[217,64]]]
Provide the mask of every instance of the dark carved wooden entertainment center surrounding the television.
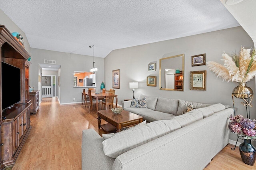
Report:
[[[30,126],[31,100],[29,99],[29,66],[31,63],[28,61],[30,57],[28,52],[14,39],[4,25],[0,25],[0,55],[4,63],[20,68],[20,102],[2,111],[2,100],[0,101],[0,170],[2,170],[11,169],[14,166],[32,128]],[[0,98],[2,99],[1,70],[0,65]]]

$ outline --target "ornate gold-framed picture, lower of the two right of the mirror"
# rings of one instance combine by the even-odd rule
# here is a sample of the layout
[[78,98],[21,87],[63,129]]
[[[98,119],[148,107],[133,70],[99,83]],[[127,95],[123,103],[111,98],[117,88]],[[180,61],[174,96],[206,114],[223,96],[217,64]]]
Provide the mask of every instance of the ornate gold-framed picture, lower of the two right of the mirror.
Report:
[[190,90],[206,90],[206,70],[190,71]]

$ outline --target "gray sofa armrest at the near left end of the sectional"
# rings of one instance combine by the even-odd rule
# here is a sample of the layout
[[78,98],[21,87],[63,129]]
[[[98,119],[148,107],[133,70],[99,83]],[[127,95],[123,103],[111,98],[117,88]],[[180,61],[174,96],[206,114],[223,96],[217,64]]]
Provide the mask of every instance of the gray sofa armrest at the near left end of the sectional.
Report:
[[82,131],[82,170],[112,168],[115,159],[104,154],[102,141],[103,138],[94,129]]

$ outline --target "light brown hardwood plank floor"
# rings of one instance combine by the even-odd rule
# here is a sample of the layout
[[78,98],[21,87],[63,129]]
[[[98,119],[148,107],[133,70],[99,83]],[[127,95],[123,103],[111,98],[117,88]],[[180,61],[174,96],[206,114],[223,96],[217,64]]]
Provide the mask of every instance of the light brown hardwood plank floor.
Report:
[[[98,129],[96,117],[96,109],[89,111],[88,106],[60,105],[57,98],[43,98],[36,115],[31,115],[32,130],[13,170],[82,169],[82,130],[92,128],[100,135],[104,133]],[[242,162],[238,147],[231,147],[229,144],[222,149],[204,170],[256,169],[256,164]]]

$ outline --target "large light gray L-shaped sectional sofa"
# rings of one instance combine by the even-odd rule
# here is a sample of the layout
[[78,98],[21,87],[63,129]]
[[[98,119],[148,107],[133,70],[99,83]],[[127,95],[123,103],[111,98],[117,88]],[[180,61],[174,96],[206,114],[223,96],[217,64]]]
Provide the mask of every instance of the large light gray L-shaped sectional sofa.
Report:
[[[228,144],[231,107],[140,97],[148,108],[122,106],[150,123],[102,137],[82,131],[83,170],[200,170]],[[182,114],[191,103],[196,109]]]

